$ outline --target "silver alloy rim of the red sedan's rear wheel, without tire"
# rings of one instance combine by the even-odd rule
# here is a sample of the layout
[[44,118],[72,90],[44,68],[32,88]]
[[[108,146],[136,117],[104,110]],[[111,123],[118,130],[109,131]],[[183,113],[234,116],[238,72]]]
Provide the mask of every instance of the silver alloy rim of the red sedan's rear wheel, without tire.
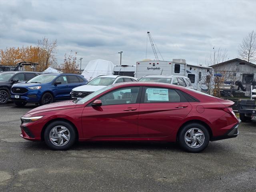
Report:
[[205,136],[199,128],[191,128],[186,132],[184,139],[190,148],[199,148],[204,144]]

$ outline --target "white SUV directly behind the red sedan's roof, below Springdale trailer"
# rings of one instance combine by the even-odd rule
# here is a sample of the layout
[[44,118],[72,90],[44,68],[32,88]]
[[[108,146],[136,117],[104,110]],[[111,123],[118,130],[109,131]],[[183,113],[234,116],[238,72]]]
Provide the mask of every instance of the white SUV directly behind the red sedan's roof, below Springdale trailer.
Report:
[[179,85],[186,88],[194,89],[188,77],[180,75],[146,75],[139,82],[160,82]]

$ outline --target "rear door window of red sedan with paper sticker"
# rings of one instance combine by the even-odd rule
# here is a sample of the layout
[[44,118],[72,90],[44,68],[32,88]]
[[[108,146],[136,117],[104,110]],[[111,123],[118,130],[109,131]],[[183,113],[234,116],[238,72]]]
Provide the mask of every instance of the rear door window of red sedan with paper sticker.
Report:
[[144,102],[180,102],[180,95],[173,89],[146,87]]

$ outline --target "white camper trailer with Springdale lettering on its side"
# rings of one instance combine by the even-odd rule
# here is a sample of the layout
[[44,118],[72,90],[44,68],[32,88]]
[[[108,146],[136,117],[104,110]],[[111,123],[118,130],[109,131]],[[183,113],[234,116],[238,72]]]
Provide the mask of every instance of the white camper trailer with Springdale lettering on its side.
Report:
[[[180,60],[181,61],[181,60]],[[140,79],[145,75],[172,75],[186,76],[186,60],[184,62],[144,60],[136,62],[135,77]]]

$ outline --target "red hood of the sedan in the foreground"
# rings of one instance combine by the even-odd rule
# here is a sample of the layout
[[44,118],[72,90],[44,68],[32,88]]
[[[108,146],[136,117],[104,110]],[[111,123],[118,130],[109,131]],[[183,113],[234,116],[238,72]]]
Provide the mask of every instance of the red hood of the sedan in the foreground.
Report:
[[37,108],[30,110],[28,113],[31,115],[34,115],[37,113],[42,113],[47,111],[54,111],[54,110],[61,110],[61,109],[75,108],[75,107],[76,107],[76,104],[72,102],[72,100],[68,100],[68,101],[56,102],[56,103],[39,106]]

